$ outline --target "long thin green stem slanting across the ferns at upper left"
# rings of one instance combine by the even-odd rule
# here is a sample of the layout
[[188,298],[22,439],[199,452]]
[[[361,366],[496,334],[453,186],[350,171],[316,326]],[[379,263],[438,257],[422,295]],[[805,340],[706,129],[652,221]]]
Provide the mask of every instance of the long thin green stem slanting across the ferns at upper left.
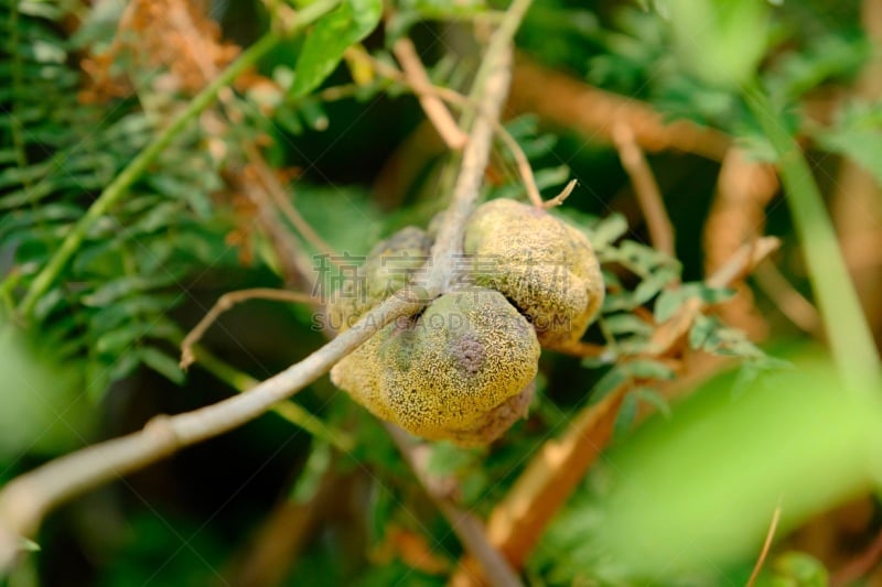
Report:
[[263,35],[257,43],[248,47],[238,59],[229,65],[224,72],[218,75],[205,89],[196,95],[193,100],[187,104],[178,117],[165,127],[149,145],[129,163],[117,177],[104,188],[98,198],[89,206],[89,209],[77,221],[71,232],[62,242],[52,259],[45,264],[40,273],[31,282],[28,292],[19,305],[19,313],[28,317],[30,316],[36,303],[52,286],[52,283],[58,278],[58,274],[67,265],[67,262],[76,253],[83,240],[86,238],[89,229],[95,222],[100,219],[116,204],[131,187],[131,185],[144,174],[157,156],[166,148],[171,142],[176,139],[186,127],[204,112],[217,99],[217,95],[222,89],[229,86],[236,77],[243,72],[255,65],[263,55],[269,53],[279,42],[288,34],[293,34],[302,31],[305,26],[315,22],[319,18],[326,14],[340,3],[340,0],[316,0],[309,4],[303,10],[298,11],[293,18],[284,24],[284,33],[279,31],[270,31]]

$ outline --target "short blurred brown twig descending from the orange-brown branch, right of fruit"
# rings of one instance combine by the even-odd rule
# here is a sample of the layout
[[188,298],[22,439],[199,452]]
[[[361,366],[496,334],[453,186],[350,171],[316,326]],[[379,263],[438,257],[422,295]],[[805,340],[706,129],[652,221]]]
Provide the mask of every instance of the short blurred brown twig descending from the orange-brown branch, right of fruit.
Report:
[[622,166],[634,185],[634,193],[643,209],[653,246],[665,254],[676,257],[674,225],[665,209],[662,192],[658,189],[653,170],[649,169],[643,151],[634,139],[634,131],[626,122],[616,122],[613,126],[613,142],[619,149]]

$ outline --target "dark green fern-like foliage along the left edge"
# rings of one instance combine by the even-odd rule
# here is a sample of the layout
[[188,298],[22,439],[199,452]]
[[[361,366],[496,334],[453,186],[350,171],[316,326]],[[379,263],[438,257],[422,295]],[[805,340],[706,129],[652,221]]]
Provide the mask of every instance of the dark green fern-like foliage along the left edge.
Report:
[[[4,290],[18,293],[161,123],[137,99],[111,108],[78,99],[84,76],[61,30],[64,15],[44,2],[0,8],[0,251],[12,258]],[[196,272],[236,262],[224,243],[229,215],[212,200],[224,185],[220,163],[203,140],[194,131],[166,150],[92,225],[24,317],[58,360],[83,361],[80,383],[95,399],[142,363],[180,380],[172,357],[181,331],[169,312]]]

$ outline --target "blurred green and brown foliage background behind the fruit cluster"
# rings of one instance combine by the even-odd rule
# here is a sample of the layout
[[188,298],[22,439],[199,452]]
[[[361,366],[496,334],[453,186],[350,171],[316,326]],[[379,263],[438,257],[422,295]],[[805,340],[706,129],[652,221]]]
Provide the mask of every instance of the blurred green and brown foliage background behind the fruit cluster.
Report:
[[[320,304],[236,306],[186,372],[179,348],[220,295],[312,294],[319,256],[365,256],[447,206],[456,156],[387,69],[410,39],[432,84],[467,95],[507,4],[344,2],[364,22],[278,43],[30,295],[114,177],[305,4],[0,8],[0,483],[303,358],[333,334],[316,328]],[[610,434],[592,436],[607,450],[555,498],[548,528],[521,530],[535,534],[526,584],[741,585],[757,559],[768,585],[882,584],[882,390],[851,392],[837,374],[813,283],[829,280],[806,261],[831,221],[878,344],[880,43],[876,0],[533,2],[503,122],[544,197],[578,180],[557,214],[603,263],[607,300],[584,339],[600,350],[544,352],[527,420],[429,458],[486,520],[544,447],[613,402]],[[805,200],[782,188],[789,155],[752,110],[754,86],[805,153],[825,205],[815,224],[794,221]],[[497,143],[486,196],[523,199]],[[741,259],[762,236],[776,250]],[[673,316],[688,324],[671,335]],[[6,580],[445,584],[463,548],[381,425],[327,378],[294,401],[60,508]]]

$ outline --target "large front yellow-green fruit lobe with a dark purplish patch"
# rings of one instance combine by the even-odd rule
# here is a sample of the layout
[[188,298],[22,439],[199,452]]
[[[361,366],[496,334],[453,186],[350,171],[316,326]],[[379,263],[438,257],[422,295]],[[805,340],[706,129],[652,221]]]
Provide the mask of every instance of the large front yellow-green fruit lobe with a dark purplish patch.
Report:
[[526,414],[536,331],[498,292],[448,293],[341,360],[332,381],[376,416],[429,439],[481,445]]

